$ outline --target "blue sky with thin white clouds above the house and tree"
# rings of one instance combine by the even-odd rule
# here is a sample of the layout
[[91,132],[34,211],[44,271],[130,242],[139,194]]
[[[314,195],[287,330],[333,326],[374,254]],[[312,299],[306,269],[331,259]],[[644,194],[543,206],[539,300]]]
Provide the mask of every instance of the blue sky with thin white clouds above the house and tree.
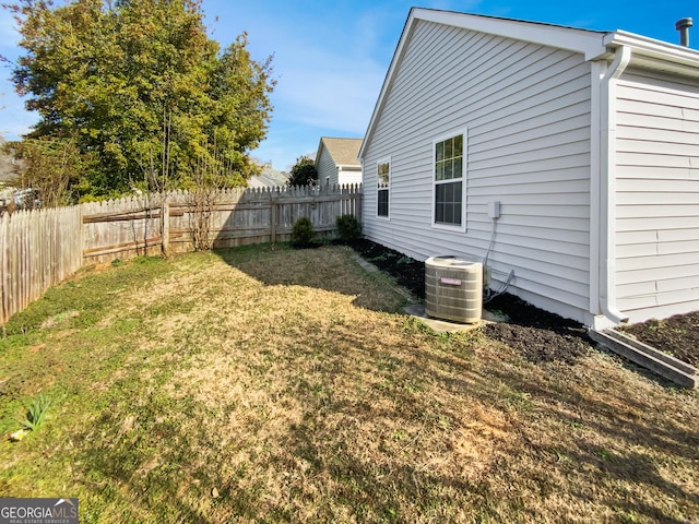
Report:
[[[697,0],[203,0],[211,37],[222,46],[245,31],[254,60],[274,55],[274,111],[268,138],[252,155],[285,170],[315,153],[320,136],[362,138],[413,5],[624,29],[674,44],[675,21],[691,16],[697,27],[690,47],[699,47]],[[14,59],[19,36],[9,13],[0,11],[0,55]],[[0,70],[0,134],[16,140],[37,117],[23,109],[10,74]]]

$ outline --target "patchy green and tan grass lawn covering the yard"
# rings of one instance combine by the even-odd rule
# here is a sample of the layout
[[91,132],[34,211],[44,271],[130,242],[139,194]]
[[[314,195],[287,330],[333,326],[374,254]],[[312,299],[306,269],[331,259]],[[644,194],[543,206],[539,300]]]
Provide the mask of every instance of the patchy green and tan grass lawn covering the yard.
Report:
[[0,340],[0,497],[81,522],[699,522],[699,402],[437,335],[342,247],[81,272]]

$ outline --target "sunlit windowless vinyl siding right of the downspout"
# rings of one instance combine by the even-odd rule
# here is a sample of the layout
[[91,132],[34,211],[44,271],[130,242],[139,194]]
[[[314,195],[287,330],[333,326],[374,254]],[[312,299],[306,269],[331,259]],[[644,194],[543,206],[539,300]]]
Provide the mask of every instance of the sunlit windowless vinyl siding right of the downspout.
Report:
[[699,86],[617,88],[617,295],[631,321],[699,309]]

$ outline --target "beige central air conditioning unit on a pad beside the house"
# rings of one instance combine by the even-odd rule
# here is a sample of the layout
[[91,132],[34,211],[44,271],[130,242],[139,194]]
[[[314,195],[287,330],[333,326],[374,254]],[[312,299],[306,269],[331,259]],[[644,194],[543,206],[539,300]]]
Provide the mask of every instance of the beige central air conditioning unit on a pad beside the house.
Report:
[[483,264],[454,255],[425,261],[428,317],[474,323],[483,313]]

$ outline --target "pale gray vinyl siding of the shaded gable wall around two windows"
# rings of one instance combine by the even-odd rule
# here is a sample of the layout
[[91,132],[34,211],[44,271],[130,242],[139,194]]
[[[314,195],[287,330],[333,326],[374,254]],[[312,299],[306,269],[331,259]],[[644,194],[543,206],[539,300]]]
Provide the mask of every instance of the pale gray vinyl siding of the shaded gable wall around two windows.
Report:
[[[418,260],[489,255],[510,293],[580,321],[589,310],[590,66],[581,55],[418,21],[364,153],[365,235]],[[467,130],[466,230],[431,226],[433,141]],[[391,218],[376,174],[391,157]]]

